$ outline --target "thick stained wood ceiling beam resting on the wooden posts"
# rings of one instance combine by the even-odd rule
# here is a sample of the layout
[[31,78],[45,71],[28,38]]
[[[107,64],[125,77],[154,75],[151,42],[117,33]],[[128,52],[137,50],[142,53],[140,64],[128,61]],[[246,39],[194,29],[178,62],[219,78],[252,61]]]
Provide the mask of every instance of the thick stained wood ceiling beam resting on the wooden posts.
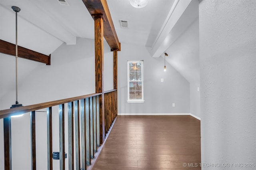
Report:
[[108,9],[106,0],[82,0],[92,18],[102,15],[104,20],[104,38],[112,50],[120,49],[120,43]]

